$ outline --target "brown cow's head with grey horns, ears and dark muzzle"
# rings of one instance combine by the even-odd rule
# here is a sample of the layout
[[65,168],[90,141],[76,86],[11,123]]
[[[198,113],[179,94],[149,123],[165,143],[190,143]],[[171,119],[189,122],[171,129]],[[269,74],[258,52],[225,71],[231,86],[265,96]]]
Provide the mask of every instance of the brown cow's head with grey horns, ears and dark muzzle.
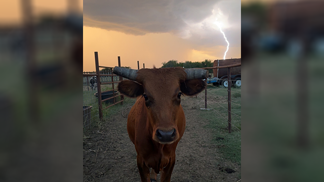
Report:
[[140,70],[115,67],[113,73],[130,79],[118,84],[121,94],[145,100],[152,139],[160,144],[172,144],[179,139],[181,96],[200,93],[206,87],[202,79],[208,77],[207,70],[181,67]]

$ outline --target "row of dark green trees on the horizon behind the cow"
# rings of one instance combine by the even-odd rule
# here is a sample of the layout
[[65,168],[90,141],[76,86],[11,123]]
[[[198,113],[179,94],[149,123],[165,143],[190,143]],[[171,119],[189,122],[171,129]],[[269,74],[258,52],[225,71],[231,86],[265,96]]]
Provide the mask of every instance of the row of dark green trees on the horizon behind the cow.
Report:
[[[206,68],[213,67],[214,61],[206,59],[203,62],[191,62],[186,61],[184,63],[178,62],[177,60],[170,60],[168,62],[163,62],[163,66],[161,68],[172,68],[172,67],[184,67],[184,68]],[[208,70],[209,73],[213,73],[213,69]]]

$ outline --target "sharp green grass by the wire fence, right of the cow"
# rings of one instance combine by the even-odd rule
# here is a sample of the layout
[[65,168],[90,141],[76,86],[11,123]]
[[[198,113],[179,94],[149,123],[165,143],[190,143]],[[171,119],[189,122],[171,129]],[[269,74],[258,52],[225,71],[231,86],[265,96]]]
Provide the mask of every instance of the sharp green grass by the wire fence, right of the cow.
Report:
[[[200,111],[200,116],[209,121],[206,128],[213,130],[212,142],[217,145],[222,157],[225,160],[230,160],[232,162],[241,163],[241,101],[240,101],[240,88],[231,88],[234,92],[232,93],[232,102],[238,105],[231,105],[231,115],[232,119],[232,131],[228,133],[228,103],[227,103],[227,88],[215,88],[213,86],[208,86],[209,92],[208,108],[213,108],[215,110],[202,110]],[[213,102],[214,100],[215,102]],[[210,102],[209,102],[210,101]],[[226,110],[224,108],[226,108]],[[236,115],[234,115],[236,114]],[[222,115],[222,116],[221,116]],[[234,127],[236,126],[236,127]]]

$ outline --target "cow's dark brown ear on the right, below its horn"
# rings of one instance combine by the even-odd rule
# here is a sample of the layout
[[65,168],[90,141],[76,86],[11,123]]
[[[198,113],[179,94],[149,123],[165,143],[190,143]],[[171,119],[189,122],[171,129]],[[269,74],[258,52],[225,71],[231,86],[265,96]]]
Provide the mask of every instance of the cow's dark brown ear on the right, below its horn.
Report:
[[180,82],[180,90],[182,94],[194,96],[199,94],[206,88],[206,82],[201,79],[190,79]]

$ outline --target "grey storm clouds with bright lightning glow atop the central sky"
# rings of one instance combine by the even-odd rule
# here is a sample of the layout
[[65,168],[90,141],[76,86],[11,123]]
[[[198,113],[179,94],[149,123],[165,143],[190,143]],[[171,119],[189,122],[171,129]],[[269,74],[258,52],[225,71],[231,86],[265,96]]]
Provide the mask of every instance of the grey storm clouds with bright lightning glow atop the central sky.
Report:
[[133,35],[173,33],[201,46],[227,45],[215,21],[222,21],[230,47],[240,47],[238,0],[84,0],[84,26]]

